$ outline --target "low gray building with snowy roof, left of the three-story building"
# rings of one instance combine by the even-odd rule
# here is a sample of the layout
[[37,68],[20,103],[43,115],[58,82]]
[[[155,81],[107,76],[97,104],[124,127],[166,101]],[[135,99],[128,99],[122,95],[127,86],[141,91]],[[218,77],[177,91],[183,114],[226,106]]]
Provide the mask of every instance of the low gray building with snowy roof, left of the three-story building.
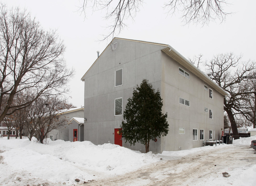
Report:
[[[70,120],[74,117],[84,118],[84,108],[83,107],[82,108],[71,108],[71,109],[64,110],[64,111],[56,114],[57,119],[58,118],[62,118],[62,119],[65,118],[66,124],[64,126],[60,127],[58,130],[52,130],[51,132],[49,132],[47,137],[51,138],[52,141],[57,140],[57,139],[61,139],[61,140],[64,140],[64,141],[73,142],[73,138],[75,138],[75,136],[74,136],[75,133],[71,134],[70,130],[73,131],[74,129],[77,129],[76,135],[78,135],[79,126],[77,128],[75,128],[76,126],[75,127],[73,125],[70,126],[68,123],[70,123]],[[79,138],[77,138],[77,137],[75,139],[79,140]]]

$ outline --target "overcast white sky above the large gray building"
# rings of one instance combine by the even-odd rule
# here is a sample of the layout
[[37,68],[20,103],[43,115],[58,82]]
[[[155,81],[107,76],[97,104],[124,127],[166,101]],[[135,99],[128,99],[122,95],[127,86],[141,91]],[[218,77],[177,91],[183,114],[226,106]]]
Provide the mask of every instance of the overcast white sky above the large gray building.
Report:
[[[80,0],[82,2],[82,0]],[[111,40],[98,42],[101,34],[108,34],[101,12],[92,14],[88,10],[87,19],[76,12],[79,0],[8,0],[10,6],[26,8],[36,16],[45,29],[57,29],[66,45],[65,59],[76,74],[70,82],[70,102],[84,106],[84,83],[81,77]],[[232,3],[226,11],[236,12],[228,16],[222,24],[212,22],[208,26],[182,26],[179,15],[167,16],[163,10],[164,0],[145,1],[134,21],[116,37],[169,44],[185,58],[199,53],[206,59],[218,53],[234,52],[243,54],[243,60],[256,60],[256,1],[228,0]]]

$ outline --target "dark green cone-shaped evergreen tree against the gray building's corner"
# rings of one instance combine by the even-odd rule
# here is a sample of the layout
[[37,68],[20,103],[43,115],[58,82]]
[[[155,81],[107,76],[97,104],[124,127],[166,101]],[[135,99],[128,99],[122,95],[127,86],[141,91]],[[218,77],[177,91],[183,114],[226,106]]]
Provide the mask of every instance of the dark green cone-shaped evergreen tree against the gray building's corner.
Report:
[[167,113],[162,113],[162,99],[159,90],[155,92],[148,80],[143,79],[140,87],[133,90],[132,98],[123,112],[122,136],[131,145],[136,142],[145,144],[149,151],[149,141],[166,136],[169,130]]

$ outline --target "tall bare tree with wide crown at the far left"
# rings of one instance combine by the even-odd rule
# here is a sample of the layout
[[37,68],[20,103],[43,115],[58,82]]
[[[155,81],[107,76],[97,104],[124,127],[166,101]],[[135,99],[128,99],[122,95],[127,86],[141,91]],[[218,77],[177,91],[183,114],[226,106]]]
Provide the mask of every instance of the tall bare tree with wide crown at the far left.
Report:
[[[65,46],[25,10],[0,5],[0,122],[39,96],[61,94],[73,74],[63,59]],[[29,92],[26,97],[24,92]],[[14,100],[24,97],[26,102]]]

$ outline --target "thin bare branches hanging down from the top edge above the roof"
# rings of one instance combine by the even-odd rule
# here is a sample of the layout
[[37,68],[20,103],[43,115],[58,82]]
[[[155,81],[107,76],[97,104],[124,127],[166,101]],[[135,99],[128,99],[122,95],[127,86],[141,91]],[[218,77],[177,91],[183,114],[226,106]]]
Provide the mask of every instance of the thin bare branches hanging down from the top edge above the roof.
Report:
[[[81,13],[86,17],[86,11],[92,9],[93,12],[104,12],[104,18],[110,22],[107,26],[109,33],[104,35],[104,39],[118,35],[126,27],[128,19],[134,20],[136,13],[143,6],[143,0],[84,0],[79,6]],[[170,0],[164,4],[168,14],[181,12],[184,24],[208,24],[210,21],[225,20],[224,6],[229,5],[226,0]]]

